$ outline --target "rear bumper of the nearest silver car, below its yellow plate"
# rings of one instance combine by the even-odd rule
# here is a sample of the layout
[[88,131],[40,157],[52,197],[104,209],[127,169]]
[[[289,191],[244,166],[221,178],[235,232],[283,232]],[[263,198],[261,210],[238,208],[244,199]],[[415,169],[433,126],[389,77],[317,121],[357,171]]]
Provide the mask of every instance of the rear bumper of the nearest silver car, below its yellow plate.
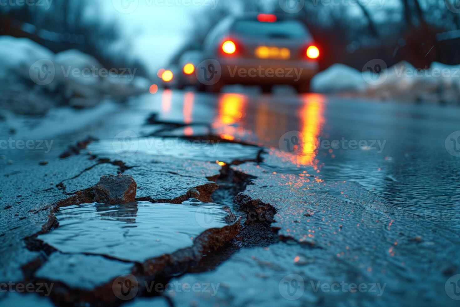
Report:
[[318,72],[316,61],[219,58],[225,84],[293,84],[310,80]]

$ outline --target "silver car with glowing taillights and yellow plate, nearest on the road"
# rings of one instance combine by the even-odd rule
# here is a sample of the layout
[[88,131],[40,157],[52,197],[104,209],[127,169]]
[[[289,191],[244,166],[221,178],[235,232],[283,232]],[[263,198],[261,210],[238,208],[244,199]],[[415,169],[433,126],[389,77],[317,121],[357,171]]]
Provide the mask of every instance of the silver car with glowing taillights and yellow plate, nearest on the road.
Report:
[[264,92],[288,84],[308,92],[318,71],[319,48],[305,25],[290,16],[227,17],[207,36],[197,77],[207,91],[228,84],[258,85]]

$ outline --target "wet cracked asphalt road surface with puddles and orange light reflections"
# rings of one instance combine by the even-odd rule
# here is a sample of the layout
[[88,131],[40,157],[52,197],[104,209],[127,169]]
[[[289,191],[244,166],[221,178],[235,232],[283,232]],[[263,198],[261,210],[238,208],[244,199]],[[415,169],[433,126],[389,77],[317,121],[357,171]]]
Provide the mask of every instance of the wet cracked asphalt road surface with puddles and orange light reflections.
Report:
[[[166,90],[4,120],[2,139],[34,146],[0,150],[0,282],[54,290],[0,302],[458,306],[459,118],[431,104]],[[85,202],[121,173],[137,203]],[[115,289],[125,274],[132,297]]]

